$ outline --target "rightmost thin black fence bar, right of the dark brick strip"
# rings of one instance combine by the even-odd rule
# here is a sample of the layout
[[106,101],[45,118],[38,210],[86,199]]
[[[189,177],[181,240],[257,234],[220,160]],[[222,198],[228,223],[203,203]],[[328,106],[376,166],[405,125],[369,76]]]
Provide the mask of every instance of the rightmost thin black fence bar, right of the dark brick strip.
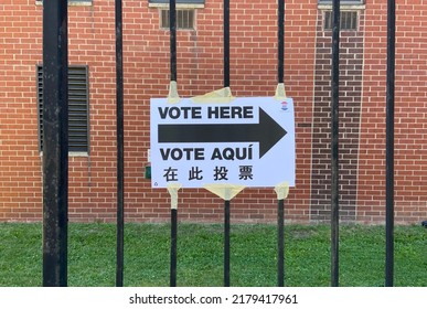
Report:
[[395,0],[387,3],[387,85],[386,85],[386,244],[385,286],[393,286],[394,268],[394,84],[395,84]]

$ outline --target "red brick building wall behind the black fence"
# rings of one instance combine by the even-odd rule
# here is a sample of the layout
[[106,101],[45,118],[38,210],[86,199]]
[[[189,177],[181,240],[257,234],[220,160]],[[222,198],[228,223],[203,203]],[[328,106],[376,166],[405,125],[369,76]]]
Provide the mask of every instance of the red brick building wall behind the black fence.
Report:
[[[273,96],[277,85],[277,1],[231,1],[231,88],[235,96]],[[249,2],[249,3],[247,3]],[[386,0],[367,1],[357,30],[341,40],[342,220],[384,221]],[[397,2],[396,221],[427,216],[425,193],[427,9]],[[408,2],[414,4],[408,4]],[[195,30],[178,31],[178,90],[195,96],[223,86],[222,1],[205,0]],[[113,0],[68,7],[70,64],[89,67],[90,148],[70,157],[70,219],[116,217],[116,75]],[[125,211],[127,221],[169,217],[167,190],[145,179],[149,99],[166,97],[169,31],[158,8],[124,0]],[[292,222],[329,217],[330,31],[316,0],[286,1],[285,84],[296,104],[297,184],[286,201]],[[426,34],[427,35],[427,34]],[[42,220],[36,65],[42,61],[42,6],[0,3],[0,221]],[[232,201],[233,222],[275,222],[273,189],[245,189]],[[180,220],[221,222],[223,201],[181,190]]]

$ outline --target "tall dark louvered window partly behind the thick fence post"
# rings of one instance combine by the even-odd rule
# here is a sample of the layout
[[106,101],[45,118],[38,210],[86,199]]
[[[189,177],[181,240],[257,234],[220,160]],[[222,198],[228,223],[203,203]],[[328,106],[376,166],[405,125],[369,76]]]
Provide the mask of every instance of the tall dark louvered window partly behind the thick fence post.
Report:
[[[68,67],[68,151],[88,152],[88,67]],[[43,151],[43,67],[38,65],[38,109],[40,151]]]

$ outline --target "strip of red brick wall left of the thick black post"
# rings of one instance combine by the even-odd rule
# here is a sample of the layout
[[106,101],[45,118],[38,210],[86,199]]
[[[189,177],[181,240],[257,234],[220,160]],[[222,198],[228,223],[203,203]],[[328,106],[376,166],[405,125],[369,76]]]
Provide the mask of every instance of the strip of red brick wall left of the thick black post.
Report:
[[29,1],[0,4],[0,220],[41,219],[35,64],[41,15]]

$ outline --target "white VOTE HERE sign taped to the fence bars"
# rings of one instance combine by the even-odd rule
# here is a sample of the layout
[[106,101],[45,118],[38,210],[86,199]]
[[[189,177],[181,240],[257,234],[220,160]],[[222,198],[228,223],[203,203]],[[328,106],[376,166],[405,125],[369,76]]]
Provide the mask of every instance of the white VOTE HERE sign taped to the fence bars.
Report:
[[152,98],[151,182],[295,187],[293,100],[236,98],[229,104],[168,104]]

